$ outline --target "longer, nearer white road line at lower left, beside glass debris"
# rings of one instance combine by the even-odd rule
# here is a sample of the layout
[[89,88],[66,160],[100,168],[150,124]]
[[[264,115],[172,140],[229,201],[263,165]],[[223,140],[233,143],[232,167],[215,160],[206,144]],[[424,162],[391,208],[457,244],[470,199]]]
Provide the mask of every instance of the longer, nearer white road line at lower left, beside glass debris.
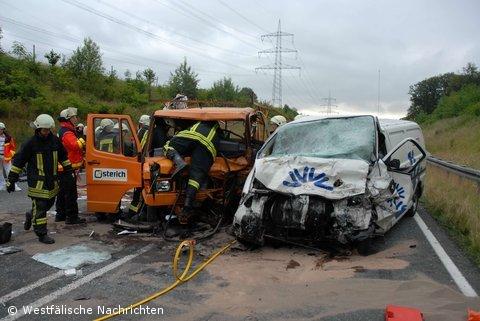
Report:
[[[53,300],[57,299],[58,297],[60,297],[60,296],[62,296],[62,295],[65,295],[65,294],[67,294],[68,292],[77,289],[78,287],[80,287],[80,286],[82,286],[82,285],[84,285],[84,284],[92,281],[93,279],[96,279],[96,278],[98,278],[99,276],[102,276],[103,274],[107,273],[108,271],[113,270],[113,269],[119,267],[120,265],[122,265],[122,264],[124,264],[124,263],[126,263],[126,262],[128,262],[128,261],[130,261],[130,260],[132,260],[132,259],[134,259],[134,258],[136,258],[137,256],[139,256],[139,255],[141,255],[141,254],[143,254],[143,253],[151,250],[153,247],[154,247],[153,244],[149,244],[149,245],[141,248],[140,250],[138,250],[137,253],[135,253],[135,254],[127,255],[127,256],[125,256],[125,257],[123,257],[123,258],[121,258],[121,259],[119,259],[119,260],[117,260],[117,261],[115,261],[115,262],[112,262],[112,263],[110,263],[109,265],[106,265],[106,266],[104,266],[103,268],[101,268],[101,269],[99,269],[99,270],[97,270],[97,271],[95,271],[95,272],[92,272],[92,273],[84,276],[83,278],[78,279],[78,280],[76,280],[75,282],[72,282],[72,283],[64,286],[63,288],[58,289],[57,291],[52,292],[52,293],[44,296],[43,298],[38,299],[37,301],[32,302],[32,303],[30,303],[30,304],[26,304],[26,305],[24,305],[24,306],[31,307],[32,309],[34,309],[34,308],[40,308],[40,307],[42,307],[42,306],[44,306],[44,305],[52,302]],[[14,315],[9,315],[9,316],[1,319],[0,321],[7,321],[7,320],[8,320],[8,321],[12,321],[12,320],[17,320],[17,319],[23,317],[24,315],[25,315],[25,313],[24,313],[23,309],[22,309],[22,308],[19,308],[19,309],[18,309],[18,312],[17,312],[16,314],[14,314]]]

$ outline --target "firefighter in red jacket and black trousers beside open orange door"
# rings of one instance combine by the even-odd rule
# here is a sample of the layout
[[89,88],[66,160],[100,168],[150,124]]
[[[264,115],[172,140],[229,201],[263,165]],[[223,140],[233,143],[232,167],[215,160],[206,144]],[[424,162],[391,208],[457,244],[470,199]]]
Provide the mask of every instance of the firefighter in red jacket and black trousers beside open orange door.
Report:
[[63,168],[58,168],[59,191],[57,201],[55,203],[56,215],[55,222],[63,222],[65,224],[81,224],[85,223],[85,219],[78,217],[78,192],[76,172],[83,167],[83,151],[85,148],[85,140],[78,138],[75,128],[78,122],[77,108],[69,107],[62,110],[60,117],[60,129],[58,130],[58,138],[62,142],[63,147],[67,151],[68,159],[72,164],[74,175],[65,173]]

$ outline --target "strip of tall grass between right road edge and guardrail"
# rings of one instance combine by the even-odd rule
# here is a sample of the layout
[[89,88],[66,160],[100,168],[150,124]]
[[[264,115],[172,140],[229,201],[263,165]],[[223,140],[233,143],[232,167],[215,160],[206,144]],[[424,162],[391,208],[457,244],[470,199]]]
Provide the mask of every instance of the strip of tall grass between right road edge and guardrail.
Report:
[[480,266],[480,185],[433,165],[422,199],[428,212]]

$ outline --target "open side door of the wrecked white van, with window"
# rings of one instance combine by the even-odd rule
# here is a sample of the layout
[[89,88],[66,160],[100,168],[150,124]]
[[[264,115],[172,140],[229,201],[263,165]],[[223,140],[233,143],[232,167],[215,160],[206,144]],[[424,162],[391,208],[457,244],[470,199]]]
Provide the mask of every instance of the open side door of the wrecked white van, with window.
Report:
[[386,207],[393,213],[393,226],[410,208],[416,210],[418,204],[417,187],[420,182],[427,154],[413,138],[406,138],[395,146],[383,162],[393,179],[393,197]]

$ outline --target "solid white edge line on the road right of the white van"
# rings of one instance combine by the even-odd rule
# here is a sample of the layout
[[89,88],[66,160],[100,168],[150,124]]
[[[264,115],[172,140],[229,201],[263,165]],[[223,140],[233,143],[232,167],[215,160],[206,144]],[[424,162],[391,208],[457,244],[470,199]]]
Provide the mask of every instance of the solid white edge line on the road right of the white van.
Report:
[[438,242],[437,238],[433,235],[432,232],[430,232],[430,229],[428,228],[427,224],[425,224],[425,222],[422,220],[420,215],[418,215],[417,213],[415,214],[414,218],[418,226],[422,230],[423,234],[427,238],[428,242],[432,246],[433,250],[437,254],[438,258],[440,259],[440,261],[442,261],[453,281],[455,281],[455,283],[457,284],[460,291],[462,291],[462,293],[467,297],[477,297],[477,292],[475,292],[473,287],[463,276],[462,272],[460,272],[455,263],[453,263],[452,259],[450,259],[440,242]]

